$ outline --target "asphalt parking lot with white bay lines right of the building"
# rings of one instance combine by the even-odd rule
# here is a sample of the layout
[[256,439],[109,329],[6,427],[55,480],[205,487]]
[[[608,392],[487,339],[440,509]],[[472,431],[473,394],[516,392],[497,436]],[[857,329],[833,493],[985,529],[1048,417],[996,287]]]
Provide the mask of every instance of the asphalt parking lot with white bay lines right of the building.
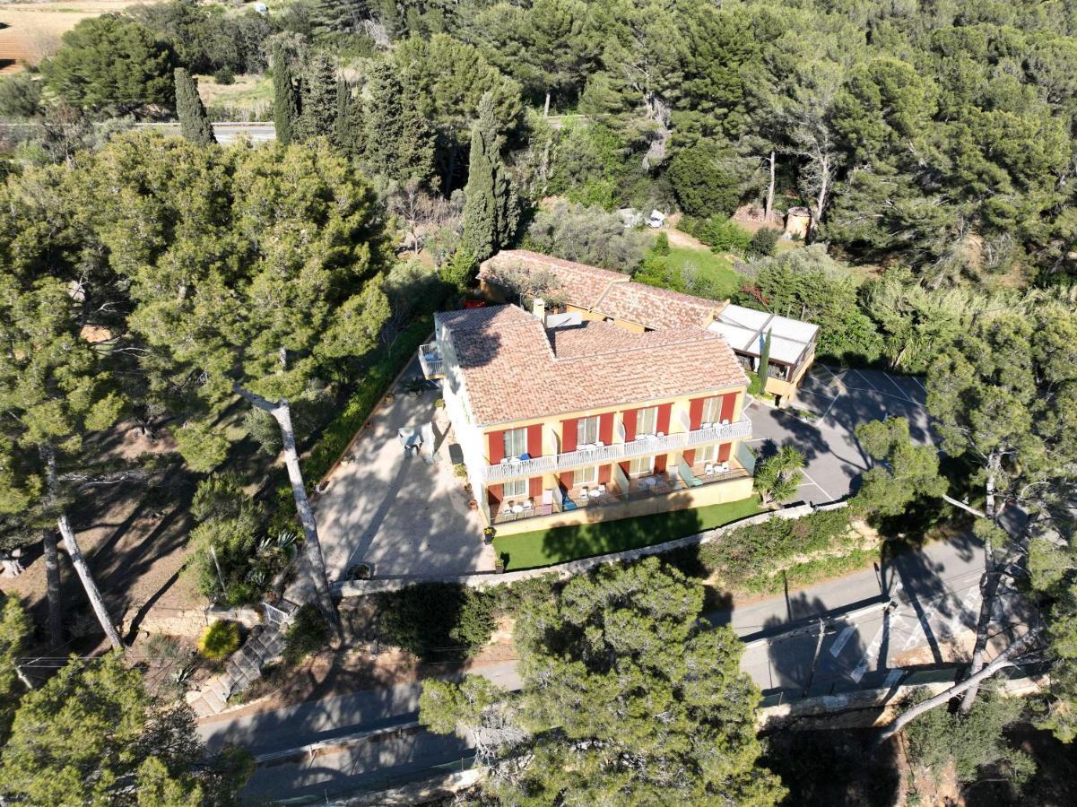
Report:
[[749,443],[764,456],[782,445],[805,455],[805,479],[798,499],[824,503],[852,492],[870,467],[854,430],[869,420],[904,417],[918,443],[931,441],[927,390],[915,376],[879,370],[839,370],[815,364],[805,378],[797,402],[774,409],[759,401],[747,409],[753,435]]

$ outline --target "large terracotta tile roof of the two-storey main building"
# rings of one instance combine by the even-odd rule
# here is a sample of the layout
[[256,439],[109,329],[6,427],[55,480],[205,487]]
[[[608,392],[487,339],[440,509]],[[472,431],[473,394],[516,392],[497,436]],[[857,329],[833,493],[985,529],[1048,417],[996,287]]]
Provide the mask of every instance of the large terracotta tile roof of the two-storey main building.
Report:
[[449,331],[479,426],[747,385],[725,339],[701,329],[632,334],[588,322],[547,332],[516,306],[437,321]]

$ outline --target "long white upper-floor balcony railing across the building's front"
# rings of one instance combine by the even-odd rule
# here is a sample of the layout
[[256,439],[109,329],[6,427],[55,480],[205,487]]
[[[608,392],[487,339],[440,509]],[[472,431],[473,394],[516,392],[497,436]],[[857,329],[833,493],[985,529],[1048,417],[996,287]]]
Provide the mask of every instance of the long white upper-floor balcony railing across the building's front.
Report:
[[532,459],[513,459],[496,465],[482,469],[484,482],[500,483],[521,476],[535,476],[553,471],[569,471],[573,468],[604,465],[610,462],[647,457],[654,454],[666,454],[679,448],[722,443],[727,440],[738,440],[752,435],[752,421],[742,418],[735,423],[715,423],[690,432],[676,432],[640,437],[630,443],[614,443],[607,446],[588,446],[564,454],[550,454]]

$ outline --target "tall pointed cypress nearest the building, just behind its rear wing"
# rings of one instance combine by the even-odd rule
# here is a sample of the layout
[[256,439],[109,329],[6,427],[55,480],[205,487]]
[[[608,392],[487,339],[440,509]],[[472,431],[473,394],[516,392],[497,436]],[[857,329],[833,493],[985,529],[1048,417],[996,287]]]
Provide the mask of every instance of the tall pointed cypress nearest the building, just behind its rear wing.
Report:
[[472,129],[462,246],[476,261],[485,261],[512,238],[518,221],[516,192],[501,162],[493,96],[487,93]]

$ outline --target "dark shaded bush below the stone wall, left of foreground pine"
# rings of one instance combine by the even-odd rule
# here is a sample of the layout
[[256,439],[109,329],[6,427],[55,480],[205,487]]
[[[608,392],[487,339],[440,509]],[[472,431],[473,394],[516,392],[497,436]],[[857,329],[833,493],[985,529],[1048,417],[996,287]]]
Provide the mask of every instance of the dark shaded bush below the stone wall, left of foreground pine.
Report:
[[490,641],[496,597],[453,583],[378,595],[379,637],[423,659],[472,656]]

